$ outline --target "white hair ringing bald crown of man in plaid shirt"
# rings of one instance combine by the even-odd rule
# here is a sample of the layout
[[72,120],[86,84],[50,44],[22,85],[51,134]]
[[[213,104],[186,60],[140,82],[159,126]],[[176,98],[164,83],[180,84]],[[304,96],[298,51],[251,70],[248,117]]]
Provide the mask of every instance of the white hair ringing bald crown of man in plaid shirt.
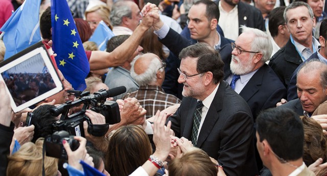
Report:
[[[144,73],[136,74],[134,70],[134,64],[140,56],[141,55],[136,56],[131,62],[131,76],[140,86],[152,85],[157,81],[157,71],[162,67],[162,64],[157,57],[153,57],[148,66],[148,69]],[[164,71],[163,68],[160,70]]]

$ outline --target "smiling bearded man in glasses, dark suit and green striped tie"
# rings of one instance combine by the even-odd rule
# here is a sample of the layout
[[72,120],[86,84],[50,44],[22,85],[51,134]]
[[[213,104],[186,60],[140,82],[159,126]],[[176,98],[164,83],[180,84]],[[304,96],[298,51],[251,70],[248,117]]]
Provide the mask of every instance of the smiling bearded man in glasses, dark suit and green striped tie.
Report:
[[227,175],[258,175],[251,110],[223,81],[219,52],[197,43],[179,56],[184,99],[168,119],[171,129],[217,159]]

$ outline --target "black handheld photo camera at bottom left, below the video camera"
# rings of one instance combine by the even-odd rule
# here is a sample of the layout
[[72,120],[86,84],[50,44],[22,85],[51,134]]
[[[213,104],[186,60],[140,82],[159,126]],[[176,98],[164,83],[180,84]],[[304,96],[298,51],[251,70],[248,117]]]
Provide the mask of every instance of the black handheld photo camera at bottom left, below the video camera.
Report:
[[67,160],[67,153],[62,145],[63,140],[67,141],[72,151],[76,151],[80,146],[79,141],[67,131],[57,131],[46,137],[44,141],[46,156]]

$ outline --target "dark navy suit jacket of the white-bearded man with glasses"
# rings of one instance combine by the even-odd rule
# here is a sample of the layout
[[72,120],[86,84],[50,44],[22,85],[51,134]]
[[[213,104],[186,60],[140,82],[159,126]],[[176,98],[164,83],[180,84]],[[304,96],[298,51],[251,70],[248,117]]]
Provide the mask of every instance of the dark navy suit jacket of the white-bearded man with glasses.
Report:
[[240,96],[250,106],[255,122],[256,116],[262,110],[276,107],[276,103],[286,98],[286,88],[274,71],[265,64],[254,73],[240,92]]

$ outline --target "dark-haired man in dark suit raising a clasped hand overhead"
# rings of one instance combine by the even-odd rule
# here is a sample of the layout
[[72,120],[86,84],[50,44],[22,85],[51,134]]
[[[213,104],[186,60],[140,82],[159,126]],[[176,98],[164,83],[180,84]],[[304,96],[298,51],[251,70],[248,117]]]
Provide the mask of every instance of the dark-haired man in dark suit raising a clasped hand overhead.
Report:
[[[222,58],[227,58],[231,56],[231,41],[216,31],[219,15],[219,9],[214,2],[209,0],[198,1],[194,3],[188,13],[188,28],[191,31],[192,39],[197,40],[199,43],[206,43],[215,47],[221,53]],[[183,48],[193,43],[181,37],[159,18],[153,23],[153,26],[160,42],[171,51],[166,61],[167,67],[165,72],[167,74],[162,88],[166,93],[173,94],[181,99],[182,85],[177,82],[179,77],[177,68],[180,65],[180,61],[177,56]]]

